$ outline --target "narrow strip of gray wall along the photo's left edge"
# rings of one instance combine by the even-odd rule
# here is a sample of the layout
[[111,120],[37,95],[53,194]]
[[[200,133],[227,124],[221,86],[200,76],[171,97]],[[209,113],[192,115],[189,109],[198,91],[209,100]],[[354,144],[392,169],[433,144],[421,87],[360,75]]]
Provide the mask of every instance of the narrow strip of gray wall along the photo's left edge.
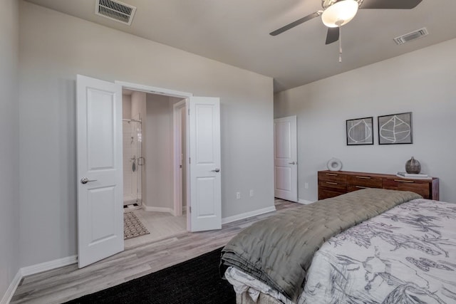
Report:
[[19,6],[0,9],[0,301],[19,270]]

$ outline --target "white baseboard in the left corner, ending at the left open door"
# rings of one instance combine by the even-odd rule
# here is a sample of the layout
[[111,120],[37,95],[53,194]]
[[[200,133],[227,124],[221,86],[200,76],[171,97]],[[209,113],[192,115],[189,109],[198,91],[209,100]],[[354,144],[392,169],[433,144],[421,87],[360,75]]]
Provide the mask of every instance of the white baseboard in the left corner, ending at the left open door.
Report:
[[24,276],[30,276],[35,273],[41,273],[43,271],[51,271],[53,269],[68,266],[78,262],[78,256],[67,256],[66,258],[58,258],[57,260],[48,261],[44,263],[39,263],[31,266],[22,267],[16,273],[13,281],[9,285],[9,288],[6,290],[5,295],[0,300],[0,304],[8,304],[13,298],[14,293],[16,292],[19,283],[21,283]]

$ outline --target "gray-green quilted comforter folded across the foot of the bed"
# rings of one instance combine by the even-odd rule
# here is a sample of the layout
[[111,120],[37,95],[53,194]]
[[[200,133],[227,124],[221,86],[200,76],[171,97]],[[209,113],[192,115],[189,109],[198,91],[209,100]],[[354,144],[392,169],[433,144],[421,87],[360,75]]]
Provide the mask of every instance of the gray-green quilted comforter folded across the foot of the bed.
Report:
[[222,268],[237,267],[296,300],[314,253],[326,240],[420,197],[413,192],[363,189],[284,211],[234,236],[222,250]]

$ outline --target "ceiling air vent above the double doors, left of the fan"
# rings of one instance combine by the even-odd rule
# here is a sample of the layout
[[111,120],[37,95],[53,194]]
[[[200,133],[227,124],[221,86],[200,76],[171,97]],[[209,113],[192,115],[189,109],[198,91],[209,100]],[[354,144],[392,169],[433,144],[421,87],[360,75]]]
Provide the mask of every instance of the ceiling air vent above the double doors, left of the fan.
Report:
[[124,24],[131,24],[136,8],[117,0],[95,0],[95,14]]

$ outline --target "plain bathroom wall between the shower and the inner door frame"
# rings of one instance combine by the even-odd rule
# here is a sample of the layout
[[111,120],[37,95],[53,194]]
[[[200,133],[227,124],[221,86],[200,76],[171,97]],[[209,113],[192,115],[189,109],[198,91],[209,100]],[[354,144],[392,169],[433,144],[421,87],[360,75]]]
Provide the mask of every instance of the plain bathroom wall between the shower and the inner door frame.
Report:
[[145,130],[145,205],[174,208],[172,103],[162,95],[147,94]]

